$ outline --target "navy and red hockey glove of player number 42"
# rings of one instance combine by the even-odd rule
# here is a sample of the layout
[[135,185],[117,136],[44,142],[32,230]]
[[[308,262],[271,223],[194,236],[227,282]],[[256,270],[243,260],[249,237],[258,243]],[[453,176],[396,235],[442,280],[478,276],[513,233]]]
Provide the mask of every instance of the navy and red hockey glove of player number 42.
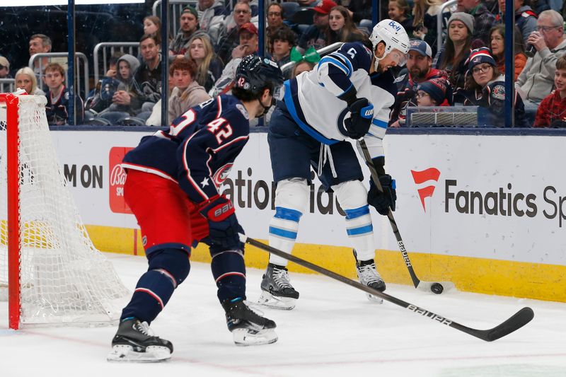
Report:
[[238,224],[234,205],[224,195],[216,195],[200,208],[202,216],[208,220],[209,246],[216,250],[243,250],[238,233],[243,228]]

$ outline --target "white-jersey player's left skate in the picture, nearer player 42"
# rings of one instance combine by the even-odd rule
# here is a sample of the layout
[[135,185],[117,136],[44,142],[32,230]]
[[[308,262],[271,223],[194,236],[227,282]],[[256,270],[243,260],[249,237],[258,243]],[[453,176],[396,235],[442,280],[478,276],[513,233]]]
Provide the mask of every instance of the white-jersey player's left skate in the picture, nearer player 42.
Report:
[[267,265],[267,271],[261,281],[261,296],[258,303],[270,308],[290,311],[295,307],[297,298],[299,292],[291,286],[287,268],[272,263]]

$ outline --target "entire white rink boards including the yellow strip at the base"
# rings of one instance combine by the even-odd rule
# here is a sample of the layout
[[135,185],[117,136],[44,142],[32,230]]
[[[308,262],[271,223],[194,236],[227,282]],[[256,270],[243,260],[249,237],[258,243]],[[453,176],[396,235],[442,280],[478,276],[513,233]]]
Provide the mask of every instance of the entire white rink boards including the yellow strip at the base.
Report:
[[[139,229],[122,197],[122,156],[141,132],[52,132],[62,171],[100,250],[143,255]],[[421,279],[463,291],[566,301],[564,137],[399,135],[386,138],[386,169],[397,180],[395,219]],[[533,152],[533,151],[536,151]],[[368,173],[367,171],[365,172]],[[369,177],[369,175],[367,175]],[[267,138],[250,141],[224,182],[246,234],[267,239],[274,185]],[[374,214],[378,262],[389,282],[410,284],[386,217]],[[313,180],[296,255],[355,277],[335,197]],[[209,260],[197,248],[192,260]],[[249,267],[267,255],[246,249]],[[291,270],[307,272],[299,266]]]

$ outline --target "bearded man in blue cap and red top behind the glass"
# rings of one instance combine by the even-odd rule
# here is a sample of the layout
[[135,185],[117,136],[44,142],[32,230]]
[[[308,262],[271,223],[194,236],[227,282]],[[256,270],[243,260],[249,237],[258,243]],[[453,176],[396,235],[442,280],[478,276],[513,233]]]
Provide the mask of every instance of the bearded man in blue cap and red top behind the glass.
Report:
[[389,127],[401,127],[405,123],[405,114],[408,106],[417,105],[417,86],[427,80],[442,76],[441,71],[432,68],[432,49],[424,40],[410,40],[407,54],[407,69],[400,71],[395,84],[397,95]]

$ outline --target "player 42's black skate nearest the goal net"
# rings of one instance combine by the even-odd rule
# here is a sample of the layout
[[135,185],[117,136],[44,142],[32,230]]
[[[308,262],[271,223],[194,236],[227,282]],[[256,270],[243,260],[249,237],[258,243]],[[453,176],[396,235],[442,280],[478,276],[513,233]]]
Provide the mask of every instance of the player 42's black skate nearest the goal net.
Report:
[[146,322],[137,318],[124,320],[112,339],[108,361],[156,362],[171,358],[173,344],[156,337]]

